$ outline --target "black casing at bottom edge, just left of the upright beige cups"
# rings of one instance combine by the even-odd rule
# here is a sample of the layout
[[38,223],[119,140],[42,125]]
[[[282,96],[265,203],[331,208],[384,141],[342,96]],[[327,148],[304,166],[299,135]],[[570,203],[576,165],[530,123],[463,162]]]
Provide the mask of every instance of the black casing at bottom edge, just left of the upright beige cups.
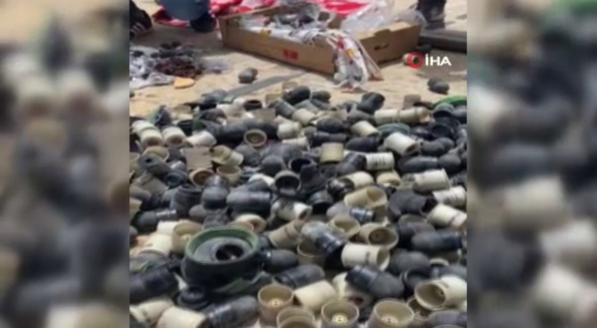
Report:
[[253,296],[242,296],[204,312],[210,328],[236,328],[256,317],[258,309]]

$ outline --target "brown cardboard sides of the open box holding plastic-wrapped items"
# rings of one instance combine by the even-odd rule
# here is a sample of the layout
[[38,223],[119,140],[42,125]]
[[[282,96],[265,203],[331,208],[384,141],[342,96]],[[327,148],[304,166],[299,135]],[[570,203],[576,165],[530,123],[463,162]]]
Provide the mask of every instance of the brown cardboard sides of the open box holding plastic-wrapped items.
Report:
[[[220,30],[224,45],[247,53],[276,59],[290,65],[299,66],[315,72],[333,75],[334,50],[325,41],[315,44],[302,44],[286,39],[241,29],[239,22],[244,15],[272,16],[282,10],[280,7],[266,8],[251,13],[235,14],[220,18]],[[341,19],[334,20],[330,26],[338,27]],[[361,33],[358,39],[376,63],[400,59],[417,45],[420,26],[408,23],[394,23],[390,26],[368,33]]]

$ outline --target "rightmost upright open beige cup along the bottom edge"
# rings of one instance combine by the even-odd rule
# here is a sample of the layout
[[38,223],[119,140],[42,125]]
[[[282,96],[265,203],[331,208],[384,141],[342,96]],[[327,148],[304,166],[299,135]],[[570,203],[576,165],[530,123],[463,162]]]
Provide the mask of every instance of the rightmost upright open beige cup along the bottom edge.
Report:
[[413,320],[414,312],[406,303],[385,299],[373,307],[368,328],[407,328]]

